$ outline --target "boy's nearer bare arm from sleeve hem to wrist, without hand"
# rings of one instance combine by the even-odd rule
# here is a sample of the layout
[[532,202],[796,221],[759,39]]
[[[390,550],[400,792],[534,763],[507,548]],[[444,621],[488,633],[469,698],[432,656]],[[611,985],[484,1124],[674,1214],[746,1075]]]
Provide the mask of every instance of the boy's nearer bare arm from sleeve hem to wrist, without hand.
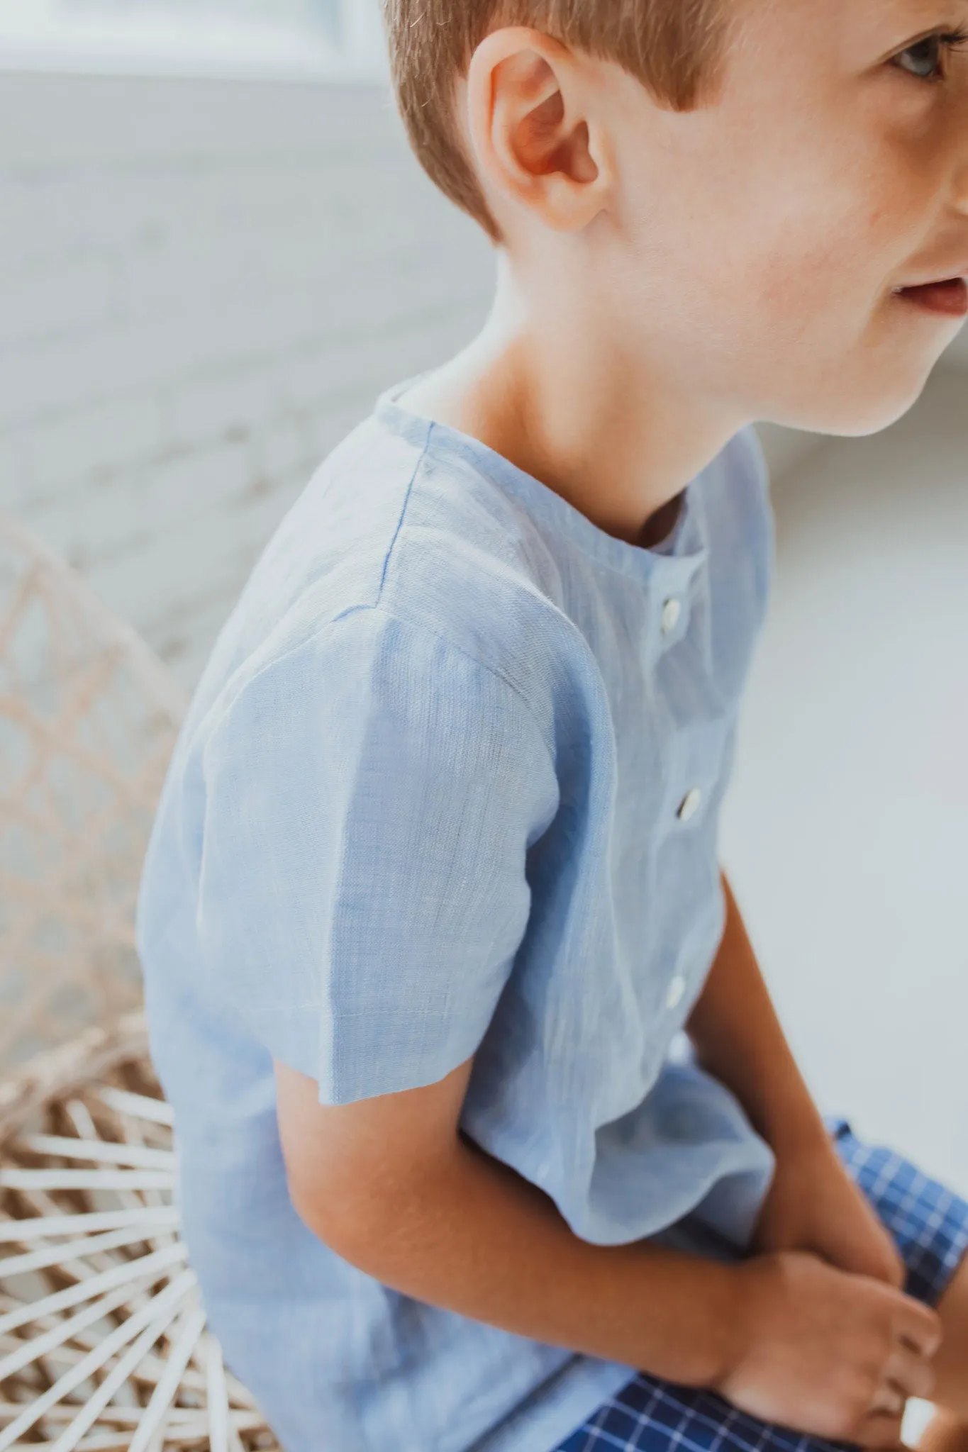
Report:
[[457,1133],[470,1061],[337,1108],[318,1102],[315,1080],[276,1073],[293,1204],[344,1259],[520,1336],[694,1385],[726,1371],[734,1270],[646,1241],[579,1240],[547,1195]]

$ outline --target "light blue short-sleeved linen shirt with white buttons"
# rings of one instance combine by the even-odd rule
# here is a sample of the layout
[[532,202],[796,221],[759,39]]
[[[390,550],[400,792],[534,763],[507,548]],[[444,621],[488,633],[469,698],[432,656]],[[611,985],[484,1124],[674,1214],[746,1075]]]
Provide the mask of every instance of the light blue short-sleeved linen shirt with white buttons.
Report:
[[675,1047],[724,922],[766,470],[740,431],[643,549],[409,382],[287,513],[192,701],[138,905],[151,1048],[212,1326],[286,1452],[546,1452],[634,1368],[335,1256],[287,1198],[271,1059],[347,1104],[476,1054],[463,1128],[576,1236],[747,1243],[772,1154]]

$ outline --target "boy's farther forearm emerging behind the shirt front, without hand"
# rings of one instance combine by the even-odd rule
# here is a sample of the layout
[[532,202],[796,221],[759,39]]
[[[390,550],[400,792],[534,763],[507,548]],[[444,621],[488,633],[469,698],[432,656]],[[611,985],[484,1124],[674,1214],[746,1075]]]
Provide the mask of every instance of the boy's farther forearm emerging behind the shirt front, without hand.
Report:
[[726,876],[726,926],[686,1024],[697,1059],[737,1096],[774,1149],[826,1141]]

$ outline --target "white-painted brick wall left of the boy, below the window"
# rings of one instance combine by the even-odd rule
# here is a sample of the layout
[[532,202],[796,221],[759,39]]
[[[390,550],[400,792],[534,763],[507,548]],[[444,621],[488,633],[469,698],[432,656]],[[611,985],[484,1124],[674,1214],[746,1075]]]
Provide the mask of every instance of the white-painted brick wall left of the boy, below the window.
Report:
[[0,510],[190,685],[318,460],[491,287],[376,86],[0,74]]

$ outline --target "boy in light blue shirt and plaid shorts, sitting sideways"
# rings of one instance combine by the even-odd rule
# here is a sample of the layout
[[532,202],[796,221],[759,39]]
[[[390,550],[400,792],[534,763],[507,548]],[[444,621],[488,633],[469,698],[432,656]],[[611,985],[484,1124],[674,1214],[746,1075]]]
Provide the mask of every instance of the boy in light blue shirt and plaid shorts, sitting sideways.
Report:
[[959,22],[389,0],[493,312],[268,543],[139,905],[186,1239],[286,1452],[894,1446],[910,1395],[968,1445],[968,1205],[820,1119],[715,838],[750,421],[885,427],[968,311]]

